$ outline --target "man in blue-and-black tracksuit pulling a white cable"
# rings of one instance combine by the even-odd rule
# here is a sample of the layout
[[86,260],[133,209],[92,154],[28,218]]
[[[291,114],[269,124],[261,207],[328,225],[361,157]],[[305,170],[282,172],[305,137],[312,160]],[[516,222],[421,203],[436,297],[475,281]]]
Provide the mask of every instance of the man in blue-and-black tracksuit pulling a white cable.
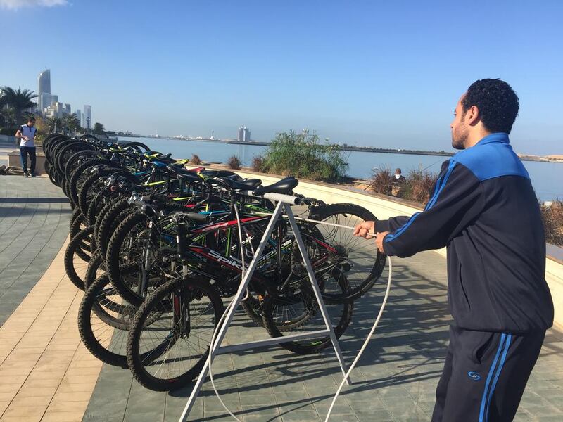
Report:
[[552,326],[545,238],[530,177],[508,134],[519,109],[506,82],[460,98],[452,145],[424,211],[365,222],[355,234],[390,256],[447,247],[450,344],[432,421],[512,421]]

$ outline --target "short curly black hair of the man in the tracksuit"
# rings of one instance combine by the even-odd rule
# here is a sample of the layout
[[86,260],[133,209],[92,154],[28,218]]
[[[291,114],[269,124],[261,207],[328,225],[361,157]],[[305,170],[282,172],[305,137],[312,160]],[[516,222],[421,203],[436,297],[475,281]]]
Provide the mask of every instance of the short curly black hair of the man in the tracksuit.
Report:
[[477,106],[485,129],[492,133],[507,134],[510,134],[520,108],[516,93],[500,79],[479,79],[473,82],[467,89],[462,106],[464,113],[472,106]]

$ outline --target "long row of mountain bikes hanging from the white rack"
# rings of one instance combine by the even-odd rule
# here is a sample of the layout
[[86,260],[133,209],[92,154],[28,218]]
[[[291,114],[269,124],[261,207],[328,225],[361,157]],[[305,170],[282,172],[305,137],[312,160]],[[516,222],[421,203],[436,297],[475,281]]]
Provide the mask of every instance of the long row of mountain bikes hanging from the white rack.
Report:
[[[108,364],[129,367],[151,390],[198,376],[210,340],[272,218],[268,193],[295,196],[308,258],[337,337],[354,301],[379,279],[385,257],[347,227],[373,220],[352,204],[296,195],[298,180],[270,186],[227,170],[186,169],[139,142],[51,134],[45,170],[70,200],[69,279],[84,290],[78,326]],[[281,215],[249,283],[243,312],[272,337],[324,328],[295,235]],[[280,343],[319,352],[330,338]]]

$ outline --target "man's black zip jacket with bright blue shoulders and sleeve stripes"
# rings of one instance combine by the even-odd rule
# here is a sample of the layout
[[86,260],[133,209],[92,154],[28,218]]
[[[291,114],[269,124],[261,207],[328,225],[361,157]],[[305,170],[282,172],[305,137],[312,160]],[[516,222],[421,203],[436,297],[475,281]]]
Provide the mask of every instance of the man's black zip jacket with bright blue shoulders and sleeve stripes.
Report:
[[545,235],[530,177],[508,135],[494,133],[445,161],[424,211],[376,222],[387,255],[448,250],[454,324],[526,333],[553,323]]

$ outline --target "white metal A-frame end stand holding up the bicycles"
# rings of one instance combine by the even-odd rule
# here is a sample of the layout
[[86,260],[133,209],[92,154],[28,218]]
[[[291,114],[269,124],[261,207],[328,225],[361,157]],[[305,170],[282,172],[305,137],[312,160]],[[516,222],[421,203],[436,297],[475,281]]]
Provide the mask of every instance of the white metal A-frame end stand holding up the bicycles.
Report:
[[[203,382],[207,377],[210,362],[213,362],[217,354],[232,353],[232,352],[238,352],[239,350],[248,350],[257,347],[278,345],[279,343],[286,343],[295,340],[322,338],[328,334],[331,338],[331,343],[332,343],[332,347],[334,347],[334,352],[336,352],[336,357],[339,360],[340,369],[343,375],[346,376],[346,371],[347,371],[346,363],[344,362],[338,340],[336,339],[336,335],[334,334],[334,329],[332,328],[332,324],[330,322],[329,314],[327,312],[327,307],[324,305],[324,301],[322,300],[322,293],[320,292],[319,286],[317,285],[317,280],[315,279],[315,273],[312,270],[311,262],[309,260],[307,250],[305,249],[305,245],[303,243],[303,238],[301,238],[299,227],[296,223],[295,217],[293,216],[293,212],[291,211],[290,205],[296,205],[295,202],[296,198],[289,195],[279,195],[275,193],[266,193],[263,197],[277,201],[274,214],[272,215],[272,218],[270,219],[270,222],[266,227],[266,231],[264,232],[264,236],[262,236],[262,240],[260,241],[260,245],[258,246],[258,249],[255,252],[253,260],[251,261],[250,266],[248,267],[246,273],[244,274],[244,278],[242,279],[241,284],[239,286],[239,290],[236,292],[234,298],[235,302],[230,307],[229,312],[224,318],[224,322],[220,328],[220,331],[217,334],[217,339],[215,340],[215,347],[213,348],[213,350],[210,350],[210,359],[205,361],[205,365],[203,366],[201,372],[199,373],[196,384],[194,385],[194,390],[191,391],[191,395],[189,396],[188,402],[186,403],[186,407],[184,407],[182,416],[180,416],[179,418],[179,422],[185,422],[187,420],[189,416],[189,412],[191,411],[191,408],[194,407],[196,398],[198,397]],[[307,273],[309,275],[312,289],[315,292],[315,298],[317,298],[320,312],[322,314],[322,318],[324,319],[324,325],[327,328],[319,331],[310,331],[308,333],[284,335],[283,337],[268,338],[266,340],[257,340],[248,343],[241,343],[238,345],[221,346],[221,343],[224,340],[224,336],[227,334],[227,330],[231,325],[234,312],[236,312],[236,309],[239,307],[241,300],[246,295],[246,287],[248,286],[248,283],[252,279],[252,276],[258,264],[258,260],[260,260],[260,257],[262,256],[262,252],[264,252],[268,238],[270,237],[270,234],[272,234],[272,231],[274,230],[274,226],[277,222],[277,219],[281,215],[282,210],[285,210],[287,219],[289,219],[289,224],[291,225],[291,229],[293,230],[293,236],[295,236],[295,240],[297,242],[299,252],[301,252],[301,257],[303,257],[303,262],[305,263],[305,268],[307,269]],[[348,385],[350,385],[351,381],[348,379],[347,383]]]

